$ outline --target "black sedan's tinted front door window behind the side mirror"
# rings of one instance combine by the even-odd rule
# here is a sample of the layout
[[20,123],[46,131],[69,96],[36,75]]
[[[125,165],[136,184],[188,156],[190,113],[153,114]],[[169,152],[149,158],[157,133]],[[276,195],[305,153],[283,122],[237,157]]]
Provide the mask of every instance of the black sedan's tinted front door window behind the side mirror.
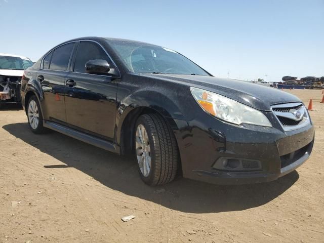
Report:
[[94,42],[80,42],[75,56],[74,72],[84,73],[86,62],[94,59],[109,61],[105,51]]

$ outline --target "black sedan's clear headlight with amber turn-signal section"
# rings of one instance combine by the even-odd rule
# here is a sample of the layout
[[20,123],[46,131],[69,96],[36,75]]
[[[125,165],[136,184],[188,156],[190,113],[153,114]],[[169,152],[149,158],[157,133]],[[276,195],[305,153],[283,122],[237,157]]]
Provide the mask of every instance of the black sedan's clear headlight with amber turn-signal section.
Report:
[[272,127],[268,118],[259,110],[213,92],[190,87],[191,94],[206,112],[236,125],[253,124]]

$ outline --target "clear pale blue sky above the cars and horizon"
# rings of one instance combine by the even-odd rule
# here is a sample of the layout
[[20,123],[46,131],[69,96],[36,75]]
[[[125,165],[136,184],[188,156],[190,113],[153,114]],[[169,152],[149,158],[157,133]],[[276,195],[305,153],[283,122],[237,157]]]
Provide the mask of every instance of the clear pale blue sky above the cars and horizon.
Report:
[[215,76],[324,76],[324,0],[0,0],[0,53],[36,61],[81,36],[176,50]]

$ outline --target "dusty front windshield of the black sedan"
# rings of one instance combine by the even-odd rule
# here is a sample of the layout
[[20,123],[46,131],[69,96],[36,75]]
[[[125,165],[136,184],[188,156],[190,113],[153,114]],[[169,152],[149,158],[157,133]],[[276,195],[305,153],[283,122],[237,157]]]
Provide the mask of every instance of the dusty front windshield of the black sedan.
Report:
[[130,71],[210,76],[181,54],[163,47],[129,41],[108,41]]

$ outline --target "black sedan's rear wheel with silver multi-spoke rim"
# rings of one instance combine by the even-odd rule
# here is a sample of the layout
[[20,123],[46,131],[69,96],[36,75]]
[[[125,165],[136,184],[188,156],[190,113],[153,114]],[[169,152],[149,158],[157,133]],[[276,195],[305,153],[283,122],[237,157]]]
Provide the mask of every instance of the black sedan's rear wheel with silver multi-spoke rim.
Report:
[[[33,112],[32,109],[34,109]],[[44,128],[43,126],[43,114],[42,114],[41,106],[39,106],[36,96],[33,95],[29,98],[26,113],[28,119],[28,126],[30,130],[35,134],[45,133],[46,128]],[[36,119],[37,115],[38,115],[38,120]]]

